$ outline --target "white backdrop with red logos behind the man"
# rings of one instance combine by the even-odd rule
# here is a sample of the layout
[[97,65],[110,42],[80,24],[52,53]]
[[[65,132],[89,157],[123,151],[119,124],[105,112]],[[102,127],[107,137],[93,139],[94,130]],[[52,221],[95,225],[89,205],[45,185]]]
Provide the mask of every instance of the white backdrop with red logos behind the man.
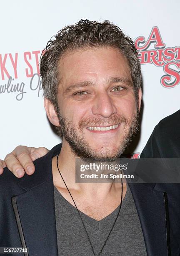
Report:
[[[81,18],[110,20],[134,41],[144,36],[140,47],[152,32],[150,44],[140,50],[146,57],[141,61],[148,63],[142,64],[144,108],[134,152],[142,151],[160,119],[180,108],[179,0],[6,0],[0,9],[1,159],[20,144],[52,148],[60,143],[46,118],[40,81],[32,75],[51,36]],[[163,79],[171,87],[161,82],[167,74],[170,81]]]

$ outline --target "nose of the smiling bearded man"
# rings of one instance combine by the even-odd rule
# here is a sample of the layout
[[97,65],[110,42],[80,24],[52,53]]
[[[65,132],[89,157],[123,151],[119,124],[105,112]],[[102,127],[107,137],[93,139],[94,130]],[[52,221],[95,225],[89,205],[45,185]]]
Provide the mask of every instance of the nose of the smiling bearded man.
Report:
[[104,118],[109,118],[116,112],[115,102],[113,102],[107,92],[99,93],[95,96],[92,106],[92,113],[94,115],[101,115]]

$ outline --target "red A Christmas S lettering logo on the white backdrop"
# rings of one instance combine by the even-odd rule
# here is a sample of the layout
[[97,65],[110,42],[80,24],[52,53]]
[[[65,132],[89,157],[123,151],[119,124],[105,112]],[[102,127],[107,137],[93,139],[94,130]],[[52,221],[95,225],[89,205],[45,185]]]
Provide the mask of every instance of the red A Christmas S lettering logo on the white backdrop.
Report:
[[163,67],[165,75],[160,83],[166,88],[173,88],[180,83],[180,46],[165,47],[158,27],[153,27],[148,39],[139,36],[135,39],[141,64],[154,64]]

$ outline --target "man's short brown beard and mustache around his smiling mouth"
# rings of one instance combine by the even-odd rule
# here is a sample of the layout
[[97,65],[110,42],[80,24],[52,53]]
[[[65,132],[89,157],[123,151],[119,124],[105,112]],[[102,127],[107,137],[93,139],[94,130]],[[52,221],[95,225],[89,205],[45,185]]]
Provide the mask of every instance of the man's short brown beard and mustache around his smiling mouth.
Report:
[[[78,127],[73,126],[72,123],[67,118],[62,117],[60,113],[58,113],[58,118],[60,127],[58,127],[57,131],[59,135],[65,138],[69,143],[73,154],[82,159],[101,162],[115,161],[115,159],[119,158],[132,141],[132,138],[137,133],[139,126],[138,112],[132,119],[127,119],[122,115],[113,116],[109,118],[108,121],[102,120],[102,118],[84,118],[80,121]],[[120,146],[118,146],[116,150],[113,148],[111,149],[110,147],[102,147],[98,150],[93,150],[84,137],[83,128],[92,126],[98,127],[99,125],[110,126],[113,124],[124,125],[123,136],[120,143],[118,142]],[[111,142],[109,141],[109,143]]]

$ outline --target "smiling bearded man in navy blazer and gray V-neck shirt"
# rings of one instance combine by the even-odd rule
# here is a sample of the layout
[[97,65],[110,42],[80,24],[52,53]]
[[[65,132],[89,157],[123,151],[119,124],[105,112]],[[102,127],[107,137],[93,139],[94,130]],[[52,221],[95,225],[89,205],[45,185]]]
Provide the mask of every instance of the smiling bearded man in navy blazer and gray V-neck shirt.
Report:
[[48,42],[40,75],[62,143],[35,161],[32,176],[1,175],[0,246],[28,247],[29,255],[170,255],[163,194],[142,184],[75,182],[77,157],[115,161],[137,130],[133,41],[108,21],[80,20]]

